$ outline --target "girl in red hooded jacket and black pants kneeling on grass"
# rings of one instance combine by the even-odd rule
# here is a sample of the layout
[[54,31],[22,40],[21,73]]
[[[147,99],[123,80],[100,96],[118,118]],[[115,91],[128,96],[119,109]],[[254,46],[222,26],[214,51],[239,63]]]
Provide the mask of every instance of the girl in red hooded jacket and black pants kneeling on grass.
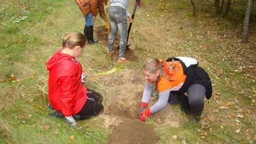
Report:
[[58,49],[46,63],[49,101],[56,110],[51,115],[65,118],[71,126],[76,126],[76,120],[84,120],[103,111],[102,96],[84,88],[81,83],[82,67],[76,58],[81,56],[85,44],[83,34],[68,33],[63,38],[63,49]]

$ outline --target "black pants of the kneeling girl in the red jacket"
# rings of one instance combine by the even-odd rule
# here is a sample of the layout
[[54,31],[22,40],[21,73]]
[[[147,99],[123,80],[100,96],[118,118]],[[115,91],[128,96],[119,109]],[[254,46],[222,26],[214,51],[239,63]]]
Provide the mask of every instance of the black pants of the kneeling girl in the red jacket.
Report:
[[104,109],[102,103],[102,95],[93,90],[87,89],[87,100],[76,115],[80,115],[80,120],[92,118],[92,116],[99,115]]

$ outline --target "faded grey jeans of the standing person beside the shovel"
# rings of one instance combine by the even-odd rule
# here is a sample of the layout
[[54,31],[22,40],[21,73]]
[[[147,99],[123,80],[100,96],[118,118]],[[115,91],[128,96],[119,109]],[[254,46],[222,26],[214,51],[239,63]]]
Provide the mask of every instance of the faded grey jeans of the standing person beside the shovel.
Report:
[[126,10],[120,6],[110,6],[109,19],[111,25],[111,35],[108,40],[108,52],[113,52],[113,45],[116,40],[118,29],[120,31],[119,57],[125,58],[127,45],[127,15]]

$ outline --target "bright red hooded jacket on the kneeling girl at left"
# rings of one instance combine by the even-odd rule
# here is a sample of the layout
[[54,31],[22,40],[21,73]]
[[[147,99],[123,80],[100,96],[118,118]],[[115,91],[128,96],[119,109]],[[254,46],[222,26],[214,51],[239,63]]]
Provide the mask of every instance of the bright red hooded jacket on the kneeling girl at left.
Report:
[[87,100],[87,89],[81,83],[81,64],[59,49],[47,61],[46,67],[49,70],[49,101],[52,108],[65,116],[76,115]]

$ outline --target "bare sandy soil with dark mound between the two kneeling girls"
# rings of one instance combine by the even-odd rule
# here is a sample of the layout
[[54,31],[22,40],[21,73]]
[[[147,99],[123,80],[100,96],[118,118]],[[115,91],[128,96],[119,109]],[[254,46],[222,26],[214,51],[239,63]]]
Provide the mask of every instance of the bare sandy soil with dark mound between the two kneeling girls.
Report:
[[[145,125],[136,117],[145,86],[142,74],[127,70],[101,79],[106,93],[104,94],[105,111],[99,115],[99,118],[106,127],[114,127],[108,143],[157,143],[154,127]],[[149,106],[152,105],[153,100],[150,101]],[[158,125],[179,127],[182,118],[168,105],[154,113],[152,121]]]

